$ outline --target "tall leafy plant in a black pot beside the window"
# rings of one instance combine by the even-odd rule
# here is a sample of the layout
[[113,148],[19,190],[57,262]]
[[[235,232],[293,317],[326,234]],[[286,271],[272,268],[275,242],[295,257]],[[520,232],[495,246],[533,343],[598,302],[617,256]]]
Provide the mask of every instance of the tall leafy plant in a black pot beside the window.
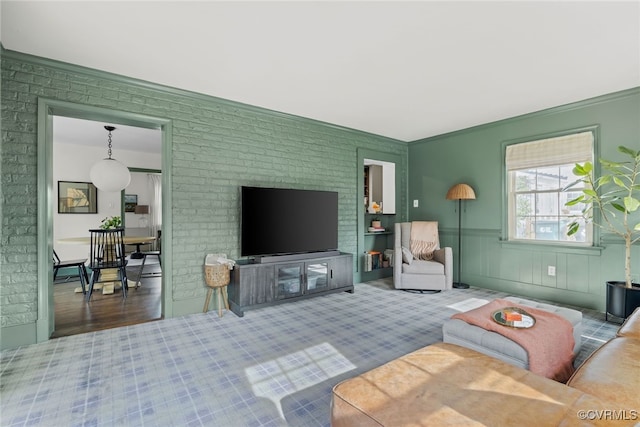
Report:
[[[578,184],[582,193],[566,206],[584,204],[582,218],[592,222],[602,230],[612,233],[624,241],[625,280],[607,282],[607,314],[626,318],[640,306],[640,286],[631,280],[631,247],[640,240],[640,151],[620,146],[618,151],[627,157],[626,161],[615,162],[600,159],[600,165],[607,173],[593,177],[593,164],[577,164],[573,173],[580,177],[565,188]],[[600,213],[600,220],[594,221],[594,211]],[[575,234],[580,228],[578,221],[568,226],[567,235]]]

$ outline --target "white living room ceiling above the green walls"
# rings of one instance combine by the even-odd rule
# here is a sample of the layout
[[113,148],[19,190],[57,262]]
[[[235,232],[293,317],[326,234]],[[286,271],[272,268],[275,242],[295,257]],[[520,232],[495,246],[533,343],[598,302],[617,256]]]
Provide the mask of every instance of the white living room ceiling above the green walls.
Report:
[[412,141],[640,86],[638,1],[7,1],[6,49]]

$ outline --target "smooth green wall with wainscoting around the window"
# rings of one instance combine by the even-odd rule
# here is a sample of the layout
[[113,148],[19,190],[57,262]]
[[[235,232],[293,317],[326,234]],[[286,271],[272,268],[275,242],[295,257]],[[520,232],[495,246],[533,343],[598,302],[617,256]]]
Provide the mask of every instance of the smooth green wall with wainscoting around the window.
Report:
[[[489,123],[409,145],[409,219],[438,220],[443,243],[457,247],[457,202],[445,200],[457,182],[477,199],[463,202],[462,281],[506,292],[604,310],[604,282],[623,275],[621,245],[603,236],[601,249],[507,243],[502,239],[503,143],[596,125],[600,154],[615,159],[617,147],[640,150],[640,89]],[[639,253],[633,255],[640,274]],[[557,275],[548,276],[547,267]]]

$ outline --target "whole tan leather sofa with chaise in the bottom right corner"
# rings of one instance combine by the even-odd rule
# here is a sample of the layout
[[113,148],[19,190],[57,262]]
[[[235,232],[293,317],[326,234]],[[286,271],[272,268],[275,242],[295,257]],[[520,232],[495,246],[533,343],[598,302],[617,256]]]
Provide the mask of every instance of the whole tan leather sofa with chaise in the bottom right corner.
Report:
[[438,343],[333,389],[331,425],[583,426],[640,423],[640,309],[567,384]]

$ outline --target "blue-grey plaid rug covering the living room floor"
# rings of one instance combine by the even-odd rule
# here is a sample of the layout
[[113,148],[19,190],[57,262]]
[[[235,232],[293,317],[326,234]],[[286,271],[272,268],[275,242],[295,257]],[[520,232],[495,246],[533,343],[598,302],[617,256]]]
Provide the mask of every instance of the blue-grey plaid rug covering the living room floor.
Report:
[[[502,296],[412,294],[387,279],[244,317],[199,313],[3,351],[0,425],[329,426],[335,384],[442,341],[451,305]],[[580,362],[617,329],[583,313]]]

